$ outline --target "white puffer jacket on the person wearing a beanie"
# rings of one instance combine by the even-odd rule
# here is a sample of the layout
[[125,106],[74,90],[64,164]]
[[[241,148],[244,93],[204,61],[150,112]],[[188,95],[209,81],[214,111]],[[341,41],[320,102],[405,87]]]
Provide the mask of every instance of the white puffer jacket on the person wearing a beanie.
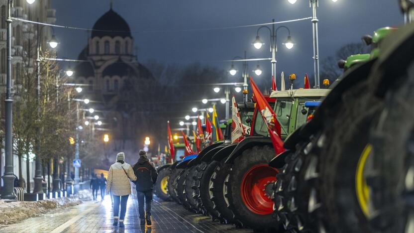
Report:
[[109,194],[109,192],[112,192],[112,195],[116,196],[129,195],[131,193],[131,183],[129,182],[129,179],[131,179],[131,181],[136,181],[136,176],[131,165],[119,162],[112,164],[108,171],[106,193]]

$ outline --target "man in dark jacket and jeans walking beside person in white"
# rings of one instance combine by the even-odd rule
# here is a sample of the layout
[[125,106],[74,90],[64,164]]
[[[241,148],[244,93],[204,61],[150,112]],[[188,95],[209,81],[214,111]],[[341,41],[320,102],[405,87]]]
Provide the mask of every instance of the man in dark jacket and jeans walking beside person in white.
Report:
[[[148,160],[147,152],[140,150],[139,159],[133,166],[136,179],[136,193],[138,196],[138,212],[140,224],[151,226],[151,202],[152,189],[157,181],[157,170],[152,162]],[[144,214],[144,198],[145,198],[145,214]]]

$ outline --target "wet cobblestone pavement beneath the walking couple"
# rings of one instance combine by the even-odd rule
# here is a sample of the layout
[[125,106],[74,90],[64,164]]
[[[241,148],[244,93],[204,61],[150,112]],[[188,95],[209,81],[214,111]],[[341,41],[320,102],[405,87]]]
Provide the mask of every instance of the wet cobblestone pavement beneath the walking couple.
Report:
[[112,227],[112,208],[110,199],[106,196],[103,202],[86,202],[0,228],[0,233],[23,232],[247,233],[251,231],[212,222],[207,216],[190,213],[177,203],[164,202],[155,196],[152,204],[152,228],[141,227],[138,219],[138,204],[131,195],[128,199],[124,229]]

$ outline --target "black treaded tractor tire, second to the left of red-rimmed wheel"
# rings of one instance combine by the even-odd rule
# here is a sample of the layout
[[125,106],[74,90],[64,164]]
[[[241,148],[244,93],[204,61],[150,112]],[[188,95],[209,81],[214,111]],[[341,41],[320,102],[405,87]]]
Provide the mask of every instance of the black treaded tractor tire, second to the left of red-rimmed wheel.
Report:
[[211,219],[219,220],[218,212],[213,209],[211,202],[210,186],[212,185],[211,176],[215,168],[218,166],[217,161],[210,161],[208,163],[202,162],[196,167],[195,181],[194,181],[194,199],[197,207],[202,211],[203,215],[209,215]]

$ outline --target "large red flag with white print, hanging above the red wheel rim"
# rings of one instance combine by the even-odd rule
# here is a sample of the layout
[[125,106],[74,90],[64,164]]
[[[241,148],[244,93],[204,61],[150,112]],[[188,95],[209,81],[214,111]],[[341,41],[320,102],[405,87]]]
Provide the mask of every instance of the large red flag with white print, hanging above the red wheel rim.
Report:
[[273,148],[275,149],[276,154],[280,154],[281,152],[285,151],[285,148],[283,148],[283,141],[280,138],[280,124],[277,121],[276,115],[273,113],[273,110],[270,107],[269,103],[267,103],[266,99],[260,92],[259,88],[257,88],[251,76],[250,83],[252,86],[253,95],[256,97],[256,104],[259,107],[260,115],[262,115],[262,118],[267,125],[267,129],[269,130]]

